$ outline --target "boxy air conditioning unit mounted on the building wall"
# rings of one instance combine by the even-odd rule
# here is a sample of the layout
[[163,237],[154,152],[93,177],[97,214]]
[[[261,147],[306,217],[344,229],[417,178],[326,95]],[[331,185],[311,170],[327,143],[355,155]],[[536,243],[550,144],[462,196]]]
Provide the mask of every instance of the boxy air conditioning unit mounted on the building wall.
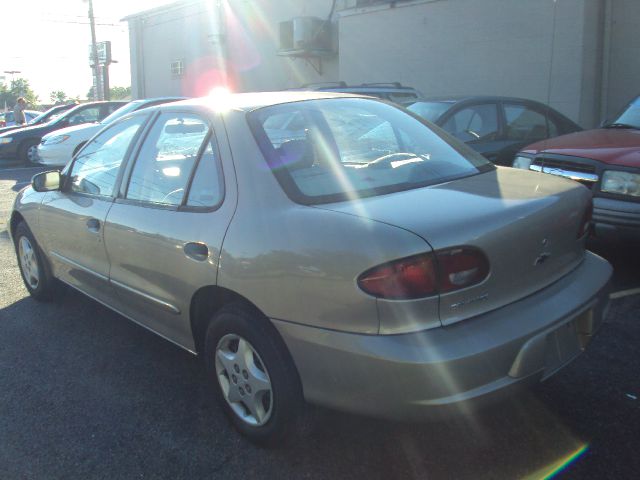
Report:
[[317,17],[295,17],[280,22],[280,52],[331,52],[330,22]]

